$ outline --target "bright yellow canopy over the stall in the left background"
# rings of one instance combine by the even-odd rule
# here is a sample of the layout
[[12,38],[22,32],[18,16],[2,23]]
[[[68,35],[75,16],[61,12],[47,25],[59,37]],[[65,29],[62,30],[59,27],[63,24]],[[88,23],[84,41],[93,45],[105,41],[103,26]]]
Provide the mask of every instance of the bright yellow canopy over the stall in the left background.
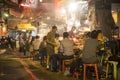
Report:
[[29,23],[21,23],[17,25],[18,30],[35,30],[35,27]]

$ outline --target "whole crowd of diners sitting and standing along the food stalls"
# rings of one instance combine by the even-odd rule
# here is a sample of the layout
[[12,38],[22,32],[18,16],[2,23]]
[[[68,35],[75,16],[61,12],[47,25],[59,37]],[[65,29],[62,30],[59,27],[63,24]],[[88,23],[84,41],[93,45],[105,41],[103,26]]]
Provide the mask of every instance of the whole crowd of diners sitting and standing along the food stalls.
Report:
[[52,26],[42,40],[38,35],[32,37],[30,33],[26,37],[20,33],[18,38],[19,52],[23,52],[24,56],[29,54],[33,60],[40,61],[40,64],[47,70],[55,72],[62,70],[63,60],[74,58],[73,62],[66,67],[69,75],[79,70],[79,66],[83,64],[97,64],[98,73],[101,76],[106,70],[104,68],[107,64],[106,61],[113,55],[108,43],[109,40],[103,36],[101,30],[93,30],[82,35],[80,45],[83,48],[76,48],[78,45],[73,41],[74,30],[73,26],[71,31],[63,32],[62,40],[59,40],[57,26]]

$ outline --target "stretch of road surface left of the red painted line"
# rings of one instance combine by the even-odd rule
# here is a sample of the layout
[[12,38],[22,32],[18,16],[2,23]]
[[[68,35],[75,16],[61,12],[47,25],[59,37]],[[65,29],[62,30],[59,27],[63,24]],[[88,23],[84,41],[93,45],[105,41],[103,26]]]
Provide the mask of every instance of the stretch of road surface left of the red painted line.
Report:
[[32,80],[22,64],[12,57],[10,53],[0,55],[0,80]]

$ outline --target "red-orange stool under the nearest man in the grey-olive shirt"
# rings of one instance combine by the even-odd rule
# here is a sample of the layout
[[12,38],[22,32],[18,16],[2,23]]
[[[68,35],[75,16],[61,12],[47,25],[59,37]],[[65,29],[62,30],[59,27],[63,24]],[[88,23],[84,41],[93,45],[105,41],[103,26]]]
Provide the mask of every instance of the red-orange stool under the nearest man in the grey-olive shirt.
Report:
[[95,68],[96,80],[99,80],[99,79],[98,79],[97,64],[83,64],[83,68],[84,68],[83,80],[86,80],[86,68],[87,68],[87,67],[94,67],[94,68]]

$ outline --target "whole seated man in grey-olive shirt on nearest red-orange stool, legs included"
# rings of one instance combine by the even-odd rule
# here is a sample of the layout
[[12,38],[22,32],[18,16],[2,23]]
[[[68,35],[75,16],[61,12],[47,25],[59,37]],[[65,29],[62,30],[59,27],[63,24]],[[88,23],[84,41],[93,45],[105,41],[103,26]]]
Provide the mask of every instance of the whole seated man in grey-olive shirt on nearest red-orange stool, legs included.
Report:
[[[70,67],[70,72],[73,74],[75,71],[79,71],[82,64],[98,64],[98,46],[99,40],[97,39],[98,32],[92,31],[89,38],[85,40],[85,44],[82,50],[82,54],[78,59],[73,61]],[[99,73],[102,74],[102,66],[98,64]]]

